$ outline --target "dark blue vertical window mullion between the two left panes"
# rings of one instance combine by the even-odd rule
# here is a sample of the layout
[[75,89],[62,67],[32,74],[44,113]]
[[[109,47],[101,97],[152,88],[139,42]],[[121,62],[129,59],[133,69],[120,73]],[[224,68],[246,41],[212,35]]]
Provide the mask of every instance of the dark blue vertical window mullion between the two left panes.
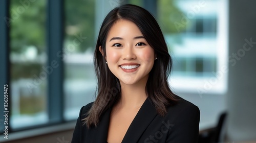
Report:
[[48,75],[48,113],[50,123],[63,121],[63,2],[48,1],[48,66],[52,73]]

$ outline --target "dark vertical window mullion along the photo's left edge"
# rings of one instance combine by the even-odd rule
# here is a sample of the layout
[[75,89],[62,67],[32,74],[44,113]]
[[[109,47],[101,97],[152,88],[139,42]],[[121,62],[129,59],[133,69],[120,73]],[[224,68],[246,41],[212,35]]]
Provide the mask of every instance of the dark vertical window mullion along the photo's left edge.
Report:
[[1,22],[0,22],[0,133],[2,134],[5,126],[4,121],[5,121],[5,116],[4,115],[4,85],[8,84],[8,133],[11,132],[11,125],[10,125],[10,90],[11,90],[11,85],[9,84],[9,79],[10,79],[10,61],[9,61],[9,26],[10,26],[10,16],[9,16],[9,1],[8,0],[3,0],[0,1],[0,17],[1,17]]

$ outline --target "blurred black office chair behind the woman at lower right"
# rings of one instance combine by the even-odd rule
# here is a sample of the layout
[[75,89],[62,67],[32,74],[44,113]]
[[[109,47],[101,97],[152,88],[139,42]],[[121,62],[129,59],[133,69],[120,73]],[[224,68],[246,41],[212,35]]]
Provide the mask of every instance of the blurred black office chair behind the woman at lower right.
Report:
[[199,134],[199,143],[217,143],[222,141],[221,135],[223,131],[223,127],[225,124],[225,119],[227,116],[227,112],[221,113],[219,117],[219,122],[215,128],[206,130]]

